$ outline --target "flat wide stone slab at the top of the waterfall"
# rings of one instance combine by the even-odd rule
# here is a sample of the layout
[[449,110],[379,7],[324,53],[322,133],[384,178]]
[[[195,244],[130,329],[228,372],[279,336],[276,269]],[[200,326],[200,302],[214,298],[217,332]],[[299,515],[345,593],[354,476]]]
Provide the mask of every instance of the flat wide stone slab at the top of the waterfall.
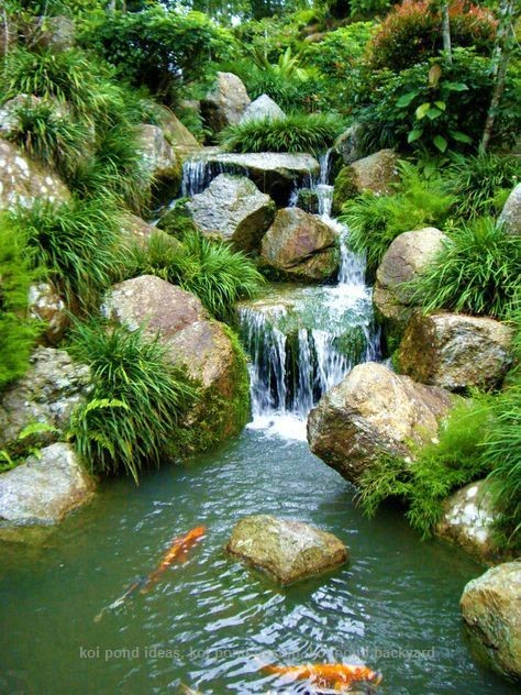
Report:
[[247,176],[279,207],[288,205],[296,186],[320,172],[320,164],[310,154],[209,152],[204,162],[214,175],[225,172]]

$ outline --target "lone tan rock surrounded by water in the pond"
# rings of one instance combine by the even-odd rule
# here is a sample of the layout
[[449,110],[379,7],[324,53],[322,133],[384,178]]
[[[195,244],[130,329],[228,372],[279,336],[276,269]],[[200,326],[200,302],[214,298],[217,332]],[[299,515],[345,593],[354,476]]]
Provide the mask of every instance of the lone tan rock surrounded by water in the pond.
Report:
[[267,572],[280,584],[332,570],[347,560],[347,548],[332,533],[302,521],[258,515],[241,519],[226,551]]

